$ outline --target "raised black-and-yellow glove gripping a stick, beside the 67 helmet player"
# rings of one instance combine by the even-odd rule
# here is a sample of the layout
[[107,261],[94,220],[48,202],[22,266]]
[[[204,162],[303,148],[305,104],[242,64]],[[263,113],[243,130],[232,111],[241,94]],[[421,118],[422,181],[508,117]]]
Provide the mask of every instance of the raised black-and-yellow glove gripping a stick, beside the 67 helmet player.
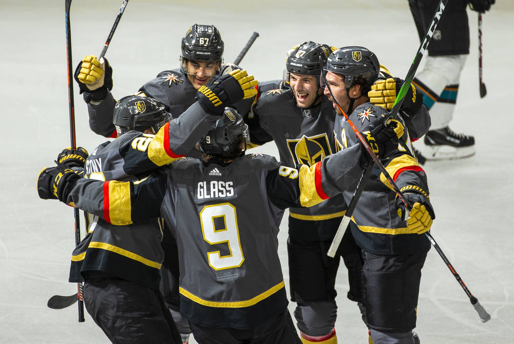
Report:
[[79,84],[80,94],[84,93],[84,101],[88,104],[90,101],[104,100],[107,90],[113,89],[113,68],[107,59],[102,59],[103,64],[96,56],[87,55],[75,69],[74,78]]

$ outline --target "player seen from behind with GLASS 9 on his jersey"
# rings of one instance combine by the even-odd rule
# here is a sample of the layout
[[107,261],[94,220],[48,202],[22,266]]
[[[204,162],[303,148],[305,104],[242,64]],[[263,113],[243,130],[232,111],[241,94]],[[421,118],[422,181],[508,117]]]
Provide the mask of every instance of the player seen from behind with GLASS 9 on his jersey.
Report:
[[[378,142],[383,126],[367,129]],[[125,170],[141,171],[135,156],[150,155],[134,148],[136,140],[125,140]],[[277,253],[283,209],[314,205],[353,186],[368,158],[357,146],[310,167],[285,167],[270,156],[244,156],[247,141],[242,116],[227,108],[198,142],[201,161],[174,159],[136,183],[87,180],[58,166],[42,172],[49,178],[40,178],[40,186],[56,190],[48,197],[112,224],[162,215],[179,247],[181,313],[199,343],[300,343]],[[387,154],[380,145],[378,154]]]

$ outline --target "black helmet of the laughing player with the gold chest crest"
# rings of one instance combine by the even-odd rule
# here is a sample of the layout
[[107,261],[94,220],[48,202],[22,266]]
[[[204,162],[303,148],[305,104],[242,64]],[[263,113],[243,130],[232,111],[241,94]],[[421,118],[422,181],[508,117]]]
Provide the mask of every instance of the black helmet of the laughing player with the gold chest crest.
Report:
[[288,73],[320,75],[332,48],[326,44],[306,41],[288,51],[286,70]]

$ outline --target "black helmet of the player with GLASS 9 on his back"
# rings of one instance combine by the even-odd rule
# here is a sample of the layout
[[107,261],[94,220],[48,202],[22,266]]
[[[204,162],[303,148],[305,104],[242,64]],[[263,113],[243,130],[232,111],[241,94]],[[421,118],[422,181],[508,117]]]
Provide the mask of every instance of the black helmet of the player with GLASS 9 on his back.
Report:
[[207,131],[198,142],[200,150],[212,156],[237,156],[240,152],[238,147],[241,140],[250,142],[248,126],[243,116],[235,109],[227,107],[223,117],[216,121],[216,124]]

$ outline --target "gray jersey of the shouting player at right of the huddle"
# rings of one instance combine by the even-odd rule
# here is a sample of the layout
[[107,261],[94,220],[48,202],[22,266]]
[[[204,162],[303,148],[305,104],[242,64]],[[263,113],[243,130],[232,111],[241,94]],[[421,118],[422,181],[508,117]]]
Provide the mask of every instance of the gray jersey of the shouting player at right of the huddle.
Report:
[[[350,119],[357,130],[362,131],[370,122],[379,121],[380,116],[388,112],[368,102],[358,106]],[[401,117],[397,120],[403,123]],[[339,149],[360,144],[343,116],[338,116],[334,131]],[[381,159],[381,162],[400,189],[417,186],[428,197],[426,173],[413,157],[406,140],[407,133],[400,140],[397,152]],[[353,190],[347,190],[343,195],[346,202],[350,202]],[[425,236],[411,234],[406,222],[398,217],[395,200],[396,193],[381,170],[374,165],[350,222],[357,244],[374,254],[408,254],[429,250],[430,242]]]

